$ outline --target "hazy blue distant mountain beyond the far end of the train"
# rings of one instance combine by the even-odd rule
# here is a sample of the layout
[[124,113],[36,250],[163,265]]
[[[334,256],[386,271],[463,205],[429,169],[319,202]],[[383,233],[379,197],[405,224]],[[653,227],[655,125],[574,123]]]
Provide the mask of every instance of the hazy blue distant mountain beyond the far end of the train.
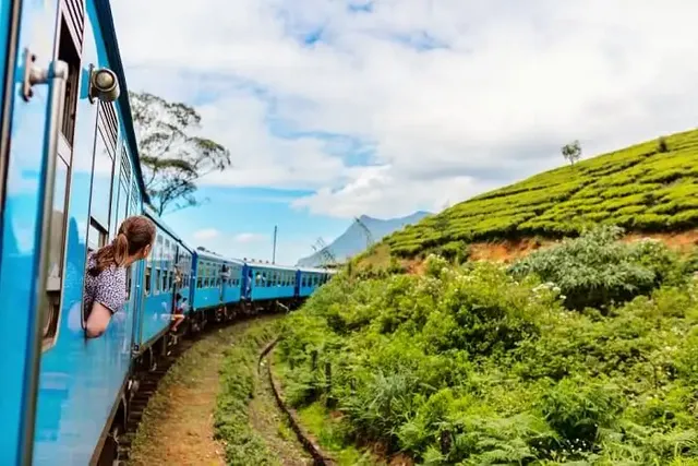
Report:
[[[380,241],[383,237],[399,230],[406,225],[416,224],[422,218],[432,215],[430,212],[419,211],[412,215],[401,218],[388,218],[380,219],[362,215],[359,217],[361,223],[371,231],[371,236],[374,241]],[[365,230],[357,222],[352,222],[349,228],[341,234],[336,240],[327,246],[327,249],[332,251],[337,261],[345,261],[347,258],[359,254],[366,249],[366,235]],[[298,261],[301,267],[315,267],[322,264],[322,253],[315,252],[308,258],[300,259]]]

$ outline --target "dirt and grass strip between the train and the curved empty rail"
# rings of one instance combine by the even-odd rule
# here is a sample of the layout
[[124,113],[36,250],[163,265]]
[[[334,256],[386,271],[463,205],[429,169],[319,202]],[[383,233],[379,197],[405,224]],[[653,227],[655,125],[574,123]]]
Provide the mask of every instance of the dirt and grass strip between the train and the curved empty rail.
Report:
[[258,350],[281,318],[217,330],[183,354],[148,402],[129,464],[278,464],[248,414]]

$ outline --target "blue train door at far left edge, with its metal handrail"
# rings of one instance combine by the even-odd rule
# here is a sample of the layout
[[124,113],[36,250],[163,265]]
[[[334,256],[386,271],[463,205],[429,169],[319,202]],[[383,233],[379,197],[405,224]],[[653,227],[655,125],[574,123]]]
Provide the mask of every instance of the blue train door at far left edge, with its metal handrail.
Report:
[[[57,162],[67,81],[55,53],[57,1],[0,2],[0,464],[32,464]],[[64,57],[60,57],[63,60]],[[56,194],[55,194],[56,189]],[[63,215],[64,212],[59,212]]]

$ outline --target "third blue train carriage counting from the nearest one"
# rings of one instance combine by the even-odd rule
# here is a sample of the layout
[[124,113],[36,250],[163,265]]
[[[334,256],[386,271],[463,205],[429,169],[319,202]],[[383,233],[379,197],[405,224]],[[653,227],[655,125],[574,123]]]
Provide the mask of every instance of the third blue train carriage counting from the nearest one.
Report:
[[196,331],[207,322],[229,320],[236,314],[240,303],[243,264],[201,248],[194,251],[193,258],[190,322]]

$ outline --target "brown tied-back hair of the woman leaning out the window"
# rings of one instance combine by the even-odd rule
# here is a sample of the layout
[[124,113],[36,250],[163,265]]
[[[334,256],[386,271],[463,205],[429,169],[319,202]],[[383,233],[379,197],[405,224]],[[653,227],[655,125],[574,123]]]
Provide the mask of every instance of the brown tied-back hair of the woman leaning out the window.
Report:
[[95,265],[89,268],[92,276],[97,276],[111,265],[122,266],[127,259],[143,250],[155,240],[155,224],[143,215],[134,215],[123,220],[119,234],[95,253]]

